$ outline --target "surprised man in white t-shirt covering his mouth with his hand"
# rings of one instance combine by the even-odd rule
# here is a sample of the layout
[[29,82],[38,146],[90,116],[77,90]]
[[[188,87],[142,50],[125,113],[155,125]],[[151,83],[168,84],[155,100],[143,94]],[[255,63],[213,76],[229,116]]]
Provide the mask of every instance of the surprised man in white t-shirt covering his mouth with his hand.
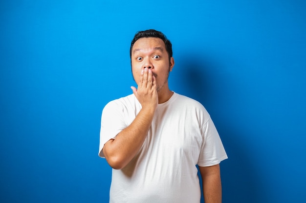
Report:
[[221,203],[219,163],[227,158],[208,112],[169,89],[171,42],[136,33],[131,70],[138,87],[102,112],[99,156],[112,169],[110,203]]

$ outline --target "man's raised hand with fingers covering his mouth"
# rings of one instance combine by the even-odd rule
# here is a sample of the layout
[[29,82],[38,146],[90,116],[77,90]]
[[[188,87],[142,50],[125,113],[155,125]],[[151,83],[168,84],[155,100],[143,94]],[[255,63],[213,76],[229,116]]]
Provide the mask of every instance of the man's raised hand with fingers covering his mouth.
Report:
[[156,109],[158,104],[156,79],[150,69],[144,68],[141,71],[138,89],[136,89],[135,87],[131,87],[131,89],[143,109]]

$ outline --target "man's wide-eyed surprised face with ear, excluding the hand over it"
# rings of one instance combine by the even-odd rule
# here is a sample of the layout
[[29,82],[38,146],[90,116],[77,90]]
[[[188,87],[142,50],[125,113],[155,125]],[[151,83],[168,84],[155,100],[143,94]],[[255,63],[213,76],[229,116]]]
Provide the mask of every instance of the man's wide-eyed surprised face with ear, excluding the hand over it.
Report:
[[131,53],[132,74],[138,84],[145,67],[152,70],[156,78],[157,92],[168,89],[168,76],[174,66],[173,57],[166,51],[165,43],[157,37],[143,37],[135,41]]

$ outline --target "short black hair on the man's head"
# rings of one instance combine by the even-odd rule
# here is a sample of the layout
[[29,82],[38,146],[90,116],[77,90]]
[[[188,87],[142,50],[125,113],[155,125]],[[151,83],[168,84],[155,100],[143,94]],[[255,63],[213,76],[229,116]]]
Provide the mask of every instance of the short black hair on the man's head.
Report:
[[161,32],[150,29],[150,30],[145,30],[145,31],[139,31],[135,34],[133,40],[131,41],[131,48],[130,48],[130,57],[132,56],[132,49],[133,49],[133,45],[135,43],[135,41],[137,41],[140,38],[143,37],[157,37],[163,40],[163,42],[165,43],[166,46],[166,51],[169,55],[169,61],[170,58],[172,57],[172,44],[170,42],[170,40]]

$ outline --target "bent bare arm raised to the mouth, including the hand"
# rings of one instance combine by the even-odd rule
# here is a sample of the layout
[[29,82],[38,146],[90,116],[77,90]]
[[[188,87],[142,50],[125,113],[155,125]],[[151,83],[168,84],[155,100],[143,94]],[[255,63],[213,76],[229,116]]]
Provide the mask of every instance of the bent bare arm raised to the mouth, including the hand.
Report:
[[158,104],[156,81],[152,71],[146,68],[141,72],[141,76],[138,89],[131,88],[142,109],[131,125],[123,129],[115,139],[110,139],[102,149],[109,165],[115,169],[121,169],[129,164],[141,148]]

